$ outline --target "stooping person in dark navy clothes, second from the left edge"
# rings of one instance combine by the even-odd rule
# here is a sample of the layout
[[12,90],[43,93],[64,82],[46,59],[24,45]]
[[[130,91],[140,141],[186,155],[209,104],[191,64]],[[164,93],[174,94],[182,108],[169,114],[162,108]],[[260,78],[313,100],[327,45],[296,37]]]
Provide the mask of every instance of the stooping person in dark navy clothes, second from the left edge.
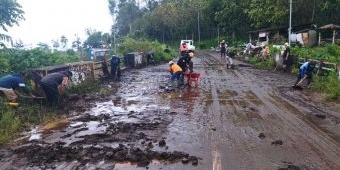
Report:
[[55,105],[61,101],[61,95],[65,92],[65,87],[71,80],[71,71],[61,71],[47,74],[40,81],[40,87],[45,92],[47,102]]

